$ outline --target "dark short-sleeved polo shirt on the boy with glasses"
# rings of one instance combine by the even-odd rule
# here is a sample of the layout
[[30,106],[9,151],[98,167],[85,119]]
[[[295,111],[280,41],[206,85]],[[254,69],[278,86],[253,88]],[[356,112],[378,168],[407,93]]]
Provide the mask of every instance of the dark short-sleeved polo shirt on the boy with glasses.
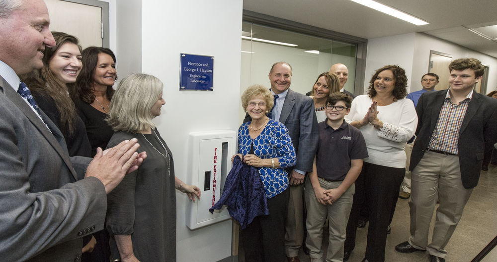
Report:
[[318,177],[341,181],[350,170],[351,159],[368,157],[366,142],[359,129],[347,124],[334,130],[323,121],[319,125],[319,145],[316,154]]

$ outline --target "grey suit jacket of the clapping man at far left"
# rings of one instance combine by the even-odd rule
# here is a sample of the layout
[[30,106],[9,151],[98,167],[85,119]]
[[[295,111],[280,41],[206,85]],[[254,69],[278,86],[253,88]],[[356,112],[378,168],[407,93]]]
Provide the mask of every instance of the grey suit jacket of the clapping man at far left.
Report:
[[41,116],[46,125],[0,76],[2,262],[79,261],[81,237],[103,229],[103,184],[76,182],[75,168],[84,173],[90,158],[70,158],[61,132]]

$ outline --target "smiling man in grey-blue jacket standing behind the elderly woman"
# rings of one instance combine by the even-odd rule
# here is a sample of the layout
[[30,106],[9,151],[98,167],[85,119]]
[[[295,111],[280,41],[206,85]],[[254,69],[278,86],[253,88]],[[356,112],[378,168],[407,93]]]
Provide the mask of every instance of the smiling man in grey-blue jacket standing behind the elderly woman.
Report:
[[270,117],[283,123],[290,133],[297,154],[297,164],[288,170],[290,200],[285,224],[285,252],[290,262],[299,262],[298,253],[304,239],[303,194],[306,172],[318,148],[319,130],[314,102],[290,90],[292,67],[286,62],[273,64],[269,71],[271,93],[277,95]]

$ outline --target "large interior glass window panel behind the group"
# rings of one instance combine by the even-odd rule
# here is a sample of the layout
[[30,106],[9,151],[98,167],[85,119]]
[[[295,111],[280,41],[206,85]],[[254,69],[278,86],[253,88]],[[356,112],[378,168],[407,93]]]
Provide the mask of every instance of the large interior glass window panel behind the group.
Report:
[[[268,43],[274,41],[279,43]],[[295,46],[286,46],[291,44]],[[271,65],[285,61],[292,65],[291,89],[306,94],[311,91],[319,74],[330,70],[332,64],[343,63],[348,68],[345,90],[354,93],[357,45],[271,28],[244,21],[242,24],[241,90],[250,85],[270,87],[268,73]]]

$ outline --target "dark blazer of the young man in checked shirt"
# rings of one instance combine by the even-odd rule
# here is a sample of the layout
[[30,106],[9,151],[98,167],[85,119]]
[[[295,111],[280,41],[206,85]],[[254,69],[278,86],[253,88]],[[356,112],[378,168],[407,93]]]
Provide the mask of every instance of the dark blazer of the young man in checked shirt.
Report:
[[[447,90],[426,92],[417,102],[416,140],[409,170],[413,170],[419,163],[428,147],[446,95]],[[496,142],[497,100],[474,91],[459,130],[457,144],[464,188],[470,189],[478,185],[485,148],[491,148]]]

